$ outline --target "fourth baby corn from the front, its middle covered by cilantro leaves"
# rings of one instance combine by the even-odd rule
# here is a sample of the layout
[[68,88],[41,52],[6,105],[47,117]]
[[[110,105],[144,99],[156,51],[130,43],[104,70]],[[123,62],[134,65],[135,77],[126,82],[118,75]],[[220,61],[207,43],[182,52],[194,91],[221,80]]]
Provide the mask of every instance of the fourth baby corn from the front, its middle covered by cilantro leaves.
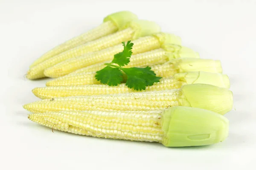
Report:
[[[131,60],[136,55],[131,57]],[[90,67],[90,66],[89,66]],[[100,66],[102,67],[102,65]],[[98,71],[102,68],[94,67],[92,71]],[[221,73],[221,62],[212,59],[172,59],[162,65],[153,65],[151,70],[159,77],[172,77],[176,73],[184,73],[189,71],[205,71],[212,73]],[[95,79],[95,72],[87,72],[87,68],[82,68],[74,73],[68,74],[57,79],[53,79],[46,83],[47,86],[69,86],[69,85],[93,85],[100,84]]]

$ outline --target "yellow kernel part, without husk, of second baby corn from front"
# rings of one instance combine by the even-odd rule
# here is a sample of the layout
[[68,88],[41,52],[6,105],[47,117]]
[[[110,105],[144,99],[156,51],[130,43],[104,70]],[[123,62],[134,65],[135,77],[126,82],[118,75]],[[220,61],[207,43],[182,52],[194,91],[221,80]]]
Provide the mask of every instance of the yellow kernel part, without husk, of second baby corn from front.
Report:
[[182,96],[180,89],[169,91],[150,91],[127,94],[108,94],[93,96],[73,96],[44,99],[24,105],[32,113],[46,111],[145,111],[179,105]]

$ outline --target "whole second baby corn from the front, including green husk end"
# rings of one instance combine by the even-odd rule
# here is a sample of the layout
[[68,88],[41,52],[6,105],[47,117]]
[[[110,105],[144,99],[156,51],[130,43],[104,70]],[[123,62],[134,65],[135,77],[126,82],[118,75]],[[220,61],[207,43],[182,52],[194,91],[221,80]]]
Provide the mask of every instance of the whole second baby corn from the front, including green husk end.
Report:
[[125,94],[73,96],[44,99],[23,107],[33,113],[46,111],[147,111],[168,106],[189,106],[225,114],[233,107],[233,94],[214,85],[183,85],[180,89]]

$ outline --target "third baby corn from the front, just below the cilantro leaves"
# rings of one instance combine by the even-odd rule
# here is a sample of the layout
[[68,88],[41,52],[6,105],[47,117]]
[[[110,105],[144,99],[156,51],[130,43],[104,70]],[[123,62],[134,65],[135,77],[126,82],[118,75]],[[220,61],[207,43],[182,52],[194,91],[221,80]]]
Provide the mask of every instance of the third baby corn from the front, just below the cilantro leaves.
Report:
[[[180,88],[187,84],[209,84],[222,88],[230,88],[230,81],[227,75],[208,72],[188,72],[175,74],[174,77],[162,78],[160,82],[154,83],[152,86],[147,86],[145,91],[163,91],[175,88]],[[138,92],[128,88],[125,83],[117,86],[109,85],[79,85],[79,86],[49,86],[44,88],[34,88],[32,90],[35,96],[40,99],[52,99],[55,97],[68,96],[85,96],[85,95],[100,95],[100,94],[119,94]]]

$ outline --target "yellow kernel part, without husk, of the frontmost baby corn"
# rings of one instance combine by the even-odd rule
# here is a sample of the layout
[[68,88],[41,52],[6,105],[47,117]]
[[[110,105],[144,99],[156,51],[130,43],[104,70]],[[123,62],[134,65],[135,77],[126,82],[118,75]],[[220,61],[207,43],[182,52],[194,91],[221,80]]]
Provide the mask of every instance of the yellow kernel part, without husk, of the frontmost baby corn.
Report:
[[161,142],[161,111],[60,111],[28,116],[40,125],[86,136]]

